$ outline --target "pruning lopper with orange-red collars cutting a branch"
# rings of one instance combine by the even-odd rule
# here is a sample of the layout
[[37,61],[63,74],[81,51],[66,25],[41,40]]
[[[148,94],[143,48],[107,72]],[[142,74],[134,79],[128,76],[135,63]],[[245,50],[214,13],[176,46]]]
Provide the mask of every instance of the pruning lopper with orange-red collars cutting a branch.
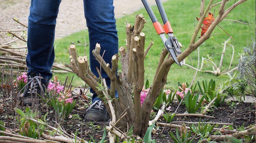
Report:
[[[168,50],[168,52],[171,54],[172,59],[179,65],[181,66],[183,64],[183,61],[178,62],[177,57],[181,54],[181,49],[180,49],[180,45],[178,42],[178,39],[173,36],[173,31],[172,31],[172,27],[170,22],[167,19],[166,13],[164,11],[164,7],[163,4],[161,2],[161,0],[156,0],[156,5],[158,7],[158,10],[161,14],[161,17],[163,19],[164,22],[164,26],[162,26],[162,24],[160,24],[157,19],[156,16],[154,14],[154,12],[152,11],[148,0],[141,0],[143,5],[145,6],[148,15],[150,17],[150,19],[153,22],[153,25],[156,29],[157,34],[161,37],[165,48]],[[164,35],[167,34],[169,37],[166,38],[166,36]]]

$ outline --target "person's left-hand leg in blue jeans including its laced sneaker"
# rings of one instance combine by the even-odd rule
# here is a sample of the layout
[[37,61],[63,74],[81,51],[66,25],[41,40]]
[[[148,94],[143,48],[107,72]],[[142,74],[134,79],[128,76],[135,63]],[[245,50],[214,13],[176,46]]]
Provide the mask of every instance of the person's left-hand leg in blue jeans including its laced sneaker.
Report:
[[28,16],[28,84],[23,105],[32,105],[36,93],[44,94],[52,78],[54,33],[61,0],[31,0]]

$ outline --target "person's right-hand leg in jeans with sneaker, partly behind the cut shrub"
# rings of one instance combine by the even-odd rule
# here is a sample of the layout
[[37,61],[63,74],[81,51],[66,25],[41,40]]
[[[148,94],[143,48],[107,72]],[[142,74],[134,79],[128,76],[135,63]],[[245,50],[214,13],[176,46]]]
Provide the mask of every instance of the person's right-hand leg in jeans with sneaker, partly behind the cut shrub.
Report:
[[[95,44],[100,44],[101,55],[105,51],[103,59],[106,63],[111,64],[111,57],[118,53],[118,37],[113,0],[84,0],[84,12],[89,30],[90,67],[92,72],[99,77],[96,67],[100,68],[100,64],[92,55]],[[101,75],[106,79],[107,85],[110,86],[110,79],[104,70],[102,70]],[[90,91],[93,93],[92,105],[87,109],[85,120],[87,122],[108,122],[110,116],[107,113],[106,107],[104,107],[96,93],[92,89]]]

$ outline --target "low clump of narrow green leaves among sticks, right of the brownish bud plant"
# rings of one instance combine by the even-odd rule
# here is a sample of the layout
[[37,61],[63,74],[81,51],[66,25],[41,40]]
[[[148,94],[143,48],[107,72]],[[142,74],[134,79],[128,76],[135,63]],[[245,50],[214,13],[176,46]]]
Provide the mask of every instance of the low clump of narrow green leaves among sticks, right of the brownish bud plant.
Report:
[[193,123],[189,125],[191,131],[195,133],[196,135],[200,136],[200,140],[207,139],[209,134],[212,132],[212,129],[214,128],[214,124],[205,124],[204,122],[201,122],[201,119],[199,120],[199,123],[197,125],[194,125]]

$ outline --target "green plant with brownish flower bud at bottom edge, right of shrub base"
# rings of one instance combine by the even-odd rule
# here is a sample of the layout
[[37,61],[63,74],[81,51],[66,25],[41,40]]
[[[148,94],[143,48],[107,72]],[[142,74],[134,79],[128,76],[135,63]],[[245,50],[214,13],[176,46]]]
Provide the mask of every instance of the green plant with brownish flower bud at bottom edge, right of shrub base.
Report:
[[189,139],[191,137],[191,131],[188,131],[186,129],[185,123],[182,124],[182,127],[180,127],[180,135],[179,135],[179,129],[176,128],[176,137],[173,135],[172,132],[169,133],[172,139],[175,143],[191,143],[194,139]]

